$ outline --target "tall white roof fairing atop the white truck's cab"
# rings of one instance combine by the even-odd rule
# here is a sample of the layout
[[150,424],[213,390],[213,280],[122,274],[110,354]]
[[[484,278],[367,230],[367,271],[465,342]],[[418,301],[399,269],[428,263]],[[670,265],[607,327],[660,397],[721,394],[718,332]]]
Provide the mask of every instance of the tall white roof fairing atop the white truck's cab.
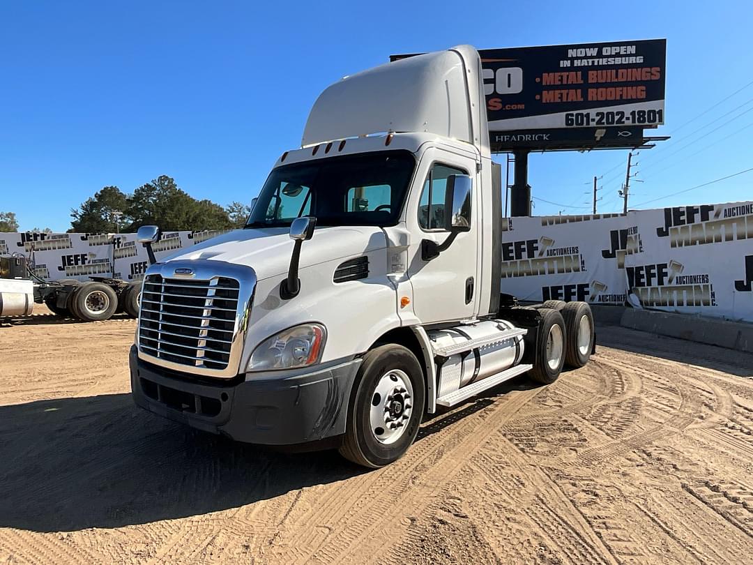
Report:
[[337,81],[314,103],[301,146],[385,132],[433,133],[475,145],[489,157],[474,47],[412,56]]

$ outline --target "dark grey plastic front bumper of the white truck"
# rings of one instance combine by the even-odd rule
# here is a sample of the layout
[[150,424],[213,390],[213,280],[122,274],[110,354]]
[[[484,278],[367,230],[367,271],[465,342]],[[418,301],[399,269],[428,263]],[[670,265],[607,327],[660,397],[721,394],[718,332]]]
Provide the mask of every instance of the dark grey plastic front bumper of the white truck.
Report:
[[349,359],[212,383],[142,361],[136,346],[130,352],[136,405],[206,432],[265,445],[301,444],[343,434],[360,365],[361,359]]

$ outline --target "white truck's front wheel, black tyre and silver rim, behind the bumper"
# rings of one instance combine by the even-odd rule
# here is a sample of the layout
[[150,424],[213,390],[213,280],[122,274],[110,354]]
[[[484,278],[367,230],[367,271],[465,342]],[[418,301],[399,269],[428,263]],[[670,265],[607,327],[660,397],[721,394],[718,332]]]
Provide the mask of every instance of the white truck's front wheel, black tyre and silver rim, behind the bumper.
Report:
[[340,454],[377,469],[398,460],[416,439],[425,386],[416,356],[401,345],[370,350],[355,377]]

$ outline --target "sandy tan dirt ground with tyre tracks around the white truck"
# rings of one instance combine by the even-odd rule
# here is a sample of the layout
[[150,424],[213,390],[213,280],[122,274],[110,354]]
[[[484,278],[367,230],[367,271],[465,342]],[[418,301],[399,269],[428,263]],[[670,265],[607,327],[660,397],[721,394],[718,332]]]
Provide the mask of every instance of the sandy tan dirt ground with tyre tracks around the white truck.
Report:
[[135,408],[134,329],[0,324],[0,563],[750,563],[753,356],[599,328],[364,472]]

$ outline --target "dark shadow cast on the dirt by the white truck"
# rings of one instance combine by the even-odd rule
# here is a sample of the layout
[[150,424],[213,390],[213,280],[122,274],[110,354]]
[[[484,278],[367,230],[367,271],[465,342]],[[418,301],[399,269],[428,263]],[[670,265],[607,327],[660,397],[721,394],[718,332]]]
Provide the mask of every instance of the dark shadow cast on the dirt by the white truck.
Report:
[[[427,420],[417,441],[535,386],[522,379]],[[367,472],[336,451],[285,454],[163,420],[128,394],[0,406],[0,527],[40,532],[184,518]]]

